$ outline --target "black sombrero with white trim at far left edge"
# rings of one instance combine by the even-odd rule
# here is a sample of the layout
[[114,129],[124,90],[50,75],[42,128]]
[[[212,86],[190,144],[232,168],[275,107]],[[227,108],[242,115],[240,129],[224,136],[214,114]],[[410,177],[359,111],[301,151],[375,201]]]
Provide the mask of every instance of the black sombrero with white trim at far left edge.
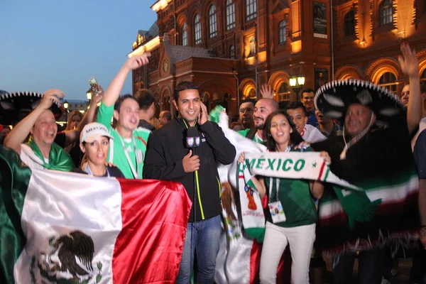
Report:
[[[43,94],[38,92],[0,93],[0,124],[13,125],[21,121],[38,106],[42,97]],[[62,116],[60,104],[52,104],[50,110],[55,119]]]

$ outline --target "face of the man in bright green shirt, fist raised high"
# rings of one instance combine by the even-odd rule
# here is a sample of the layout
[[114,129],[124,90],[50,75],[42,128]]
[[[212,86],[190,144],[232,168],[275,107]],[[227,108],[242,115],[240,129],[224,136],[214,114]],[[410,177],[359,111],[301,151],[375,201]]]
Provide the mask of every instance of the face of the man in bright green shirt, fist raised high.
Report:
[[133,131],[139,123],[139,104],[135,99],[127,98],[121,102],[119,111],[114,111],[114,119],[122,129]]

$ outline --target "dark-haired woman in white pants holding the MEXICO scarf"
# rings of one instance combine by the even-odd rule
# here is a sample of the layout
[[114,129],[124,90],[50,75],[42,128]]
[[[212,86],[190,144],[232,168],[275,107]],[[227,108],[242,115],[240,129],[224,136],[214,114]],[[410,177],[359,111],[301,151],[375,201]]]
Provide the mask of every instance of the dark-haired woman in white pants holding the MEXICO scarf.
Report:
[[[313,151],[310,147],[295,148],[303,139],[285,111],[275,111],[269,115],[265,129],[268,151]],[[321,155],[326,163],[331,162],[327,152],[322,152]],[[244,160],[245,155],[241,153],[239,163],[245,163]],[[310,257],[317,222],[315,199],[322,197],[324,185],[318,181],[289,178],[253,177],[251,181],[258,188],[261,197],[268,196],[270,211],[261,255],[261,283],[276,282],[278,264],[287,244],[290,245],[293,260],[291,283],[309,283]],[[278,214],[275,214],[275,209],[278,209]]]

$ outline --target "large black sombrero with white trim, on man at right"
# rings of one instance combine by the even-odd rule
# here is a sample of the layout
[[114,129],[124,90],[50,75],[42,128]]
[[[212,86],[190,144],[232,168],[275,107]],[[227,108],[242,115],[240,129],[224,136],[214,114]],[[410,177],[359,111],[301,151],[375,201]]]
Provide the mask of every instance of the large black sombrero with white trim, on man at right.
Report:
[[328,82],[317,90],[314,102],[315,108],[332,119],[343,120],[350,104],[362,104],[372,109],[376,123],[380,125],[406,114],[406,107],[398,96],[364,80]]

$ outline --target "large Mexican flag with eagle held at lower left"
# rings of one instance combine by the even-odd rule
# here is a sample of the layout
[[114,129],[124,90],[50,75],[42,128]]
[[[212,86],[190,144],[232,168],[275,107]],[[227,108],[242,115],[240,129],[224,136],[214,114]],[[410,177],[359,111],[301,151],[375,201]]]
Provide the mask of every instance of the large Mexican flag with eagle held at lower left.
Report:
[[0,146],[1,283],[174,283],[180,183],[30,170]]

